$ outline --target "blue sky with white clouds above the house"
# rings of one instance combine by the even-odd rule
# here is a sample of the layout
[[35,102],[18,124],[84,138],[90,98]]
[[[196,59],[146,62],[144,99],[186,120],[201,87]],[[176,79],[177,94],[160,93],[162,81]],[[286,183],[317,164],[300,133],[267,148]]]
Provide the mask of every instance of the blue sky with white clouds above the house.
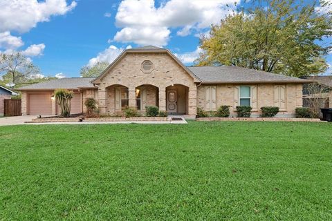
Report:
[[[243,1],[243,0],[242,0]],[[332,0],[329,0],[332,2]],[[113,61],[125,48],[161,46],[186,65],[199,36],[234,0],[0,0],[0,51],[21,51],[44,76],[80,77],[82,66]],[[331,44],[324,39],[323,44]],[[332,54],[326,57],[332,66]],[[329,68],[327,73],[331,73]]]

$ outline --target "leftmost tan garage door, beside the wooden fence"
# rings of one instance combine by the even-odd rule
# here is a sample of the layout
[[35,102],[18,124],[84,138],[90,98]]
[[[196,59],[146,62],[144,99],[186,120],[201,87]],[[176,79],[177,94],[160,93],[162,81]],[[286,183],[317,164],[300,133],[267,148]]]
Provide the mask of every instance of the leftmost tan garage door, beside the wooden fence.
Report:
[[51,115],[52,100],[50,94],[29,95],[29,114],[30,115]]

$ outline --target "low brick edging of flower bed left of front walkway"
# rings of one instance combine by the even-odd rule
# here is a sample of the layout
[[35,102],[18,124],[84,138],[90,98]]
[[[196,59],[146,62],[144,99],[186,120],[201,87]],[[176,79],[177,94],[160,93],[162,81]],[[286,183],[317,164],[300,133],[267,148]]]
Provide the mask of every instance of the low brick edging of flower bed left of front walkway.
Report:
[[[53,123],[53,122],[80,122],[80,117],[71,118],[35,118],[25,123]],[[83,122],[167,122],[168,117],[91,117]]]

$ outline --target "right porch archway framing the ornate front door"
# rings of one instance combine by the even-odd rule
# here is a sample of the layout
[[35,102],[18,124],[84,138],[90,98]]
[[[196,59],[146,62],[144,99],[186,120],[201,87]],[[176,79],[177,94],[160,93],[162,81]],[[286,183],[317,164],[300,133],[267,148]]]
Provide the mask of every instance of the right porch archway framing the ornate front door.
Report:
[[173,84],[166,88],[166,111],[169,115],[188,114],[189,88],[182,84]]

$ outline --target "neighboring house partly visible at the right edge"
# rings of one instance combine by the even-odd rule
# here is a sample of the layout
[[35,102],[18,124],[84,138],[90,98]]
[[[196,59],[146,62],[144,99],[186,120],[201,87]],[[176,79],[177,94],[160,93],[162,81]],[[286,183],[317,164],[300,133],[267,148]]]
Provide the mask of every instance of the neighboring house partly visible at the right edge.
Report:
[[320,108],[332,108],[332,76],[311,76],[306,79],[320,84],[319,87],[313,87],[312,84],[304,84],[303,97],[304,106],[311,107],[308,99],[320,99]]

